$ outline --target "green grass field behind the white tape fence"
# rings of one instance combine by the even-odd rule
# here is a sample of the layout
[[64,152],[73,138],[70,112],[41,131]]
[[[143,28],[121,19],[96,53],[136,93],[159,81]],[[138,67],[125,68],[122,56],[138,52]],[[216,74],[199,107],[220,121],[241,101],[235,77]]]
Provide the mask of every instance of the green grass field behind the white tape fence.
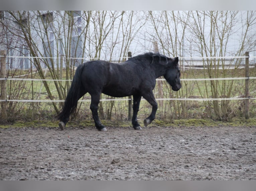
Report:
[[[189,69],[182,71],[181,79],[194,79],[194,78],[210,78],[208,70],[195,70]],[[212,71],[216,72],[216,71]],[[218,73],[211,74],[211,78],[230,78],[230,77],[244,77],[244,69],[236,70],[219,70]],[[24,78],[31,78],[29,71],[13,71],[9,73],[9,76],[24,75]],[[250,69],[250,76],[256,76],[256,68]],[[216,76],[217,75],[217,76]],[[33,74],[33,78],[40,79],[38,73]],[[52,79],[50,72],[46,72],[46,79]],[[66,79],[66,70],[63,70],[63,79]],[[154,89],[155,98],[211,98],[211,97],[243,97],[244,96],[244,80],[225,80],[225,81],[182,81],[182,88],[178,92],[173,92],[171,87],[166,81],[157,81]],[[256,80],[250,79],[250,96],[256,97]],[[33,86],[32,86],[33,83]],[[71,84],[71,82],[68,82]],[[211,83],[214,84],[214,88],[211,87]],[[53,99],[64,99],[58,95],[57,88],[52,81],[47,81]],[[57,83],[58,84],[58,83]],[[66,82],[62,82],[61,90],[64,88]],[[59,85],[59,84],[58,84]],[[7,81],[7,94],[10,99],[39,99],[49,100],[49,95],[42,83],[42,81]],[[232,88],[231,88],[232,87]],[[59,90],[59,89],[58,89]],[[213,90],[218,90],[216,95],[213,95]],[[102,99],[112,98],[110,96],[102,94]],[[127,98],[127,97],[124,97]],[[84,99],[90,100],[90,95],[87,93]],[[163,100],[158,102],[158,110],[156,113],[156,119],[151,125],[155,126],[171,126],[171,125],[198,125],[203,126],[208,123],[208,119],[223,119],[224,121],[231,121],[230,125],[236,124],[235,117],[244,116],[244,100],[230,100],[230,101],[219,101],[217,104],[220,109],[214,107],[213,101],[197,101],[197,100]],[[81,107],[80,107],[81,106]],[[216,106],[216,105],[215,105]],[[61,103],[56,103],[57,108],[61,108]],[[100,103],[101,110],[99,113],[105,118],[111,118],[112,120],[103,121],[104,125],[112,126],[131,126],[131,123],[122,123],[128,117],[128,101],[103,101]],[[90,101],[79,102],[77,110],[77,118],[84,120],[85,126],[94,124],[91,118]],[[227,108],[225,110],[225,108]],[[140,103],[140,110],[138,113],[139,122],[143,125],[143,120],[151,112],[151,105],[142,100]],[[256,115],[256,102],[254,99],[250,100],[249,108],[250,116]],[[216,112],[215,112],[216,110]],[[217,112],[218,111],[218,112]],[[15,122],[16,120],[54,120],[52,115],[56,113],[53,104],[51,102],[8,102],[8,122]],[[217,113],[217,114],[216,114]],[[218,116],[220,113],[220,116]],[[111,117],[109,117],[111,116]],[[104,117],[100,117],[103,119]],[[164,119],[164,120],[159,120]],[[177,119],[184,119],[177,120]],[[189,119],[189,120],[185,120]],[[116,122],[109,122],[116,121]],[[239,121],[240,122],[240,121]],[[216,124],[217,123],[217,124]],[[12,123],[14,124],[14,123]],[[70,123],[69,123],[70,124]],[[213,121],[209,123],[212,125],[218,125],[218,122]],[[38,124],[31,124],[38,125]],[[83,124],[81,124],[83,125]]]

